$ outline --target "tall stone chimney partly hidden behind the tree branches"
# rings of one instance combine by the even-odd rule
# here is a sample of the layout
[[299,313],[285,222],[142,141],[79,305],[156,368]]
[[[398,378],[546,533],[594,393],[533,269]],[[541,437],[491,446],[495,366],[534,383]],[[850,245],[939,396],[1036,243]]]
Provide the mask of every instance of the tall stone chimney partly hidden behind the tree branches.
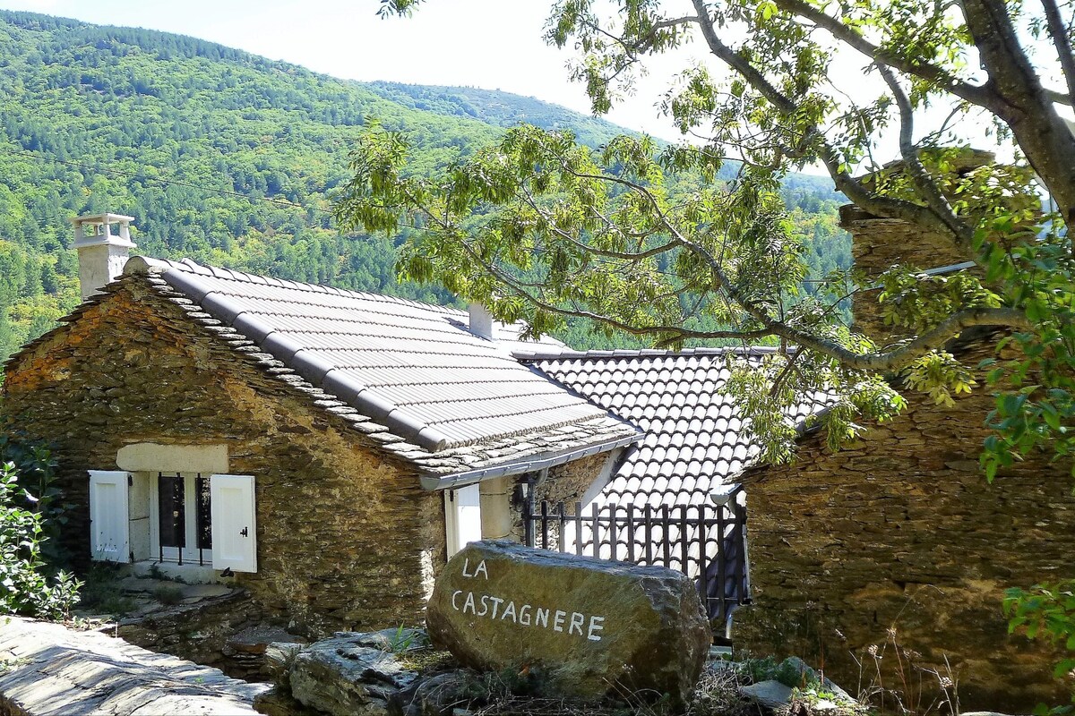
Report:
[[[993,161],[992,152],[969,150],[958,161],[951,162],[952,172],[962,175]],[[902,162],[894,162],[859,180],[870,189],[879,177],[892,179],[902,171]],[[926,232],[900,219],[874,216],[855,204],[840,207],[840,225],[851,235],[851,258],[855,267],[865,275],[865,286],[873,286],[882,274],[897,264],[924,272],[968,262],[968,257],[957,250],[948,238]],[[880,305],[877,303],[879,293],[878,288],[855,293],[851,297],[851,317],[856,331],[885,345],[905,337],[907,332],[898,326],[885,325]]]

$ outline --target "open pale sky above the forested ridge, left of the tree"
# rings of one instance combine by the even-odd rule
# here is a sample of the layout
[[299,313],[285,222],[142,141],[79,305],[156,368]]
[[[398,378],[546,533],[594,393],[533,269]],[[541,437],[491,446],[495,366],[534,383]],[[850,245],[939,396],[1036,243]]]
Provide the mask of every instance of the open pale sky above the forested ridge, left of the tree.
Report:
[[[6,10],[189,34],[346,79],[501,89],[589,114],[582,86],[568,79],[571,50],[542,40],[549,4],[430,0],[411,18],[382,19],[379,0],[0,0]],[[607,118],[675,138],[655,101],[691,55],[654,65]]]

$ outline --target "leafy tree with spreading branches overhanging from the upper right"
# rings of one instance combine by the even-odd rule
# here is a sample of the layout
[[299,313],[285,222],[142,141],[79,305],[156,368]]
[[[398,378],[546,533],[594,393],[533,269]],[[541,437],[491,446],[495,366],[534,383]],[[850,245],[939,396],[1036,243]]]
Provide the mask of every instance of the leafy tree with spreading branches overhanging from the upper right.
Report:
[[[385,0],[382,14],[419,4]],[[521,127],[418,176],[410,137],[374,129],[353,155],[336,218],[389,235],[407,228],[405,277],[443,282],[534,333],[587,319],[658,346],[776,344],[763,385],[732,381],[770,461],[790,456],[785,411],[819,386],[840,395],[821,418],[836,445],[863,419],[902,408],[892,375],[942,403],[966,390],[975,366],[949,341],[1000,326],[1010,337],[998,349],[1014,350],[989,376],[999,399],[987,476],[1044,450],[1075,477],[1075,136],[1058,111],[1075,104],[1073,13],[1051,0],[560,0],[546,40],[575,47],[571,76],[596,114],[651,56],[703,50],[678,56],[684,71],[660,101],[682,144],[620,136],[594,151],[571,132]],[[864,65],[848,75],[844,62]],[[950,116],[938,123],[933,106]],[[984,123],[1013,162],[970,161]],[[901,169],[883,164],[892,155]],[[734,179],[716,180],[733,160]],[[801,291],[804,245],[777,188],[807,165],[978,271],[895,266],[880,278],[884,313],[908,337],[851,331],[841,301],[875,277],[836,272]],[[690,177],[691,191],[669,190]]]

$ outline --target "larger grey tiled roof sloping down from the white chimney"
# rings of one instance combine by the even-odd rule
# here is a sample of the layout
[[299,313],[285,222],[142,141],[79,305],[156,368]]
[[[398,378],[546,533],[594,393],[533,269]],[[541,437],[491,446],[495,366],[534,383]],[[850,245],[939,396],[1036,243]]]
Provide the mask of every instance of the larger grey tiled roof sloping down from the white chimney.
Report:
[[[142,257],[164,293],[192,302],[284,367],[369,419],[359,429],[436,476],[496,470],[612,450],[637,430],[521,365],[514,352],[557,352],[557,341],[498,339],[468,330],[468,315],[378,294]],[[508,467],[505,467],[508,466]]]

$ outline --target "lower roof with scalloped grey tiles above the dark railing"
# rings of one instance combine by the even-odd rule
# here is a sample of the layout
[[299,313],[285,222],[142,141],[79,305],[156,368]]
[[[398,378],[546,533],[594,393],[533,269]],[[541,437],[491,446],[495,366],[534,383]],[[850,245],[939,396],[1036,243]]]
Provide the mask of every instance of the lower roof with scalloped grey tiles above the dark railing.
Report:
[[[771,349],[590,351],[539,359],[550,378],[645,433],[629,448],[599,506],[712,505],[758,454],[734,399],[723,392],[728,360],[758,361]],[[801,422],[814,406],[799,406]]]

